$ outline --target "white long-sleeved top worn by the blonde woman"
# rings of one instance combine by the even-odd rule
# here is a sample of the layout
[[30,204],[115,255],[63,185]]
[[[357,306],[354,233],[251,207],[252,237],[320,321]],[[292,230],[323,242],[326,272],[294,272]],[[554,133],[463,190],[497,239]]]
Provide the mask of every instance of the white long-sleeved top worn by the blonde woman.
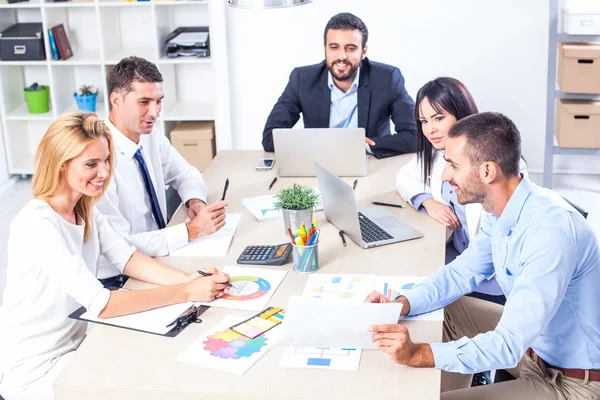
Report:
[[31,200],[11,223],[0,316],[2,386],[40,379],[79,347],[87,323],[69,314],[84,306],[97,315],[110,297],[96,278],[100,255],[122,271],[134,253],[105,217],[93,213],[87,242],[83,220],[73,225],[42,200]]

